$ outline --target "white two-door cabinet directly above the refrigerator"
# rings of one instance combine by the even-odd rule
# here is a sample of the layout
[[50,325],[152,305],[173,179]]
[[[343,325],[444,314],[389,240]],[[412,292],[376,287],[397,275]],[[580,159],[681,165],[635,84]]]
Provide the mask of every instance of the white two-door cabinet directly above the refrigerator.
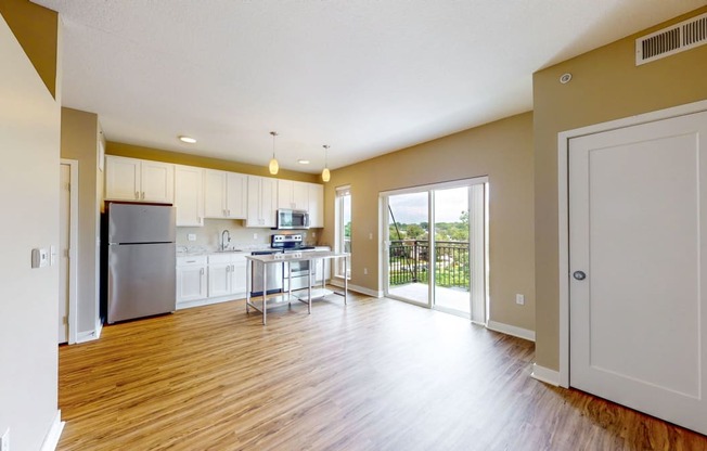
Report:
[[105,156],[105,198],[171,204],[175,165],[146,159]]

